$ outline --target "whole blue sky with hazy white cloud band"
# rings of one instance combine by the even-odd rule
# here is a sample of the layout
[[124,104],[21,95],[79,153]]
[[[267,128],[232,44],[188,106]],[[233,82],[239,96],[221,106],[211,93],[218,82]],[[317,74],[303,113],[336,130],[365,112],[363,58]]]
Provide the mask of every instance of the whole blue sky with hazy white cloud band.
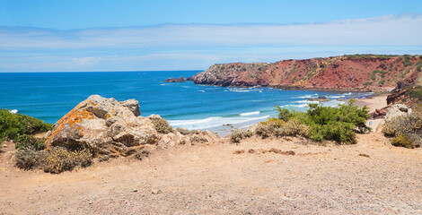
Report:
[[422,54],[422,1],[0,0],[0,72]]

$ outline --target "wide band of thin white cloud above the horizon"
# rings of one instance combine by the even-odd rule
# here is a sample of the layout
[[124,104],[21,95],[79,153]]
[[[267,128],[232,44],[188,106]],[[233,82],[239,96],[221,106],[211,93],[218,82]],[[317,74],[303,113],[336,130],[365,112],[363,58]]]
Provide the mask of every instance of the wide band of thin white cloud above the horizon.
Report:
[[292,25],[0,27],[0,72],[198,69],[363,52],[421,54],[421,27],[420,14]]

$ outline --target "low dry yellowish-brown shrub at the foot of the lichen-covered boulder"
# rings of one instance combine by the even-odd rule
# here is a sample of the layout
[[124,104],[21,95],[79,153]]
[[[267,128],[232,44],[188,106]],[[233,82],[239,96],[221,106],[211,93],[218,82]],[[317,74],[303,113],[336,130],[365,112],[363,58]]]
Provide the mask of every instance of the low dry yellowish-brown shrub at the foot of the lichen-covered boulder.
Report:
[[88,167],[92,164],[92,153],[90,150],[70,151],[62,147],[55,147],[45,160],[44,171],[49,173],[61,173],[70,171],[77,166]]

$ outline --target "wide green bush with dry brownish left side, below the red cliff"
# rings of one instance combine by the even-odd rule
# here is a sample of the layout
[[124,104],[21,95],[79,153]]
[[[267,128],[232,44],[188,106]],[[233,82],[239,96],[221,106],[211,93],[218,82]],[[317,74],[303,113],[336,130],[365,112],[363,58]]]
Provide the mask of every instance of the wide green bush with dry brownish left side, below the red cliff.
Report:
[[[369,118],[368,107],[356,107],[355,100],[338,107],[322,107],[319,104],[309,104],[306,112],[296,112],[277,107],[278,120],[268,119],[259,123],[255,133],[263,138],[276,136],[303,136],[313,141],[336,141],[341,144],[356,143],[356,133],[366,133],[371,130],[365,125]],[[277,125],[277,126],[276,126]],[[280,126],[282,125],[282,126]]]

